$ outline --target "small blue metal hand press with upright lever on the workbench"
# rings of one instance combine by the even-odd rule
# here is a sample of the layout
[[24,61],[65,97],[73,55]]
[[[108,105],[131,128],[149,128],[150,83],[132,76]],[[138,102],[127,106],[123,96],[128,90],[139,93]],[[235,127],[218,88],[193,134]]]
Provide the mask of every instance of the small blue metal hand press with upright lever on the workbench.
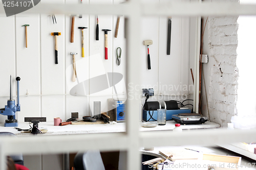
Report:
[[15,112],[20,111],[19,104],[19,77],[16,77],[17,81],[17,106],[15,106],[15,100],[12,99],[12,75],[10,77],[10,99],[7,100],[7,105],[5,108],[0,108],[0,114],[7,115],[7,119],[5,120],[5,127],[17,127],[18,122],[15,119]]

